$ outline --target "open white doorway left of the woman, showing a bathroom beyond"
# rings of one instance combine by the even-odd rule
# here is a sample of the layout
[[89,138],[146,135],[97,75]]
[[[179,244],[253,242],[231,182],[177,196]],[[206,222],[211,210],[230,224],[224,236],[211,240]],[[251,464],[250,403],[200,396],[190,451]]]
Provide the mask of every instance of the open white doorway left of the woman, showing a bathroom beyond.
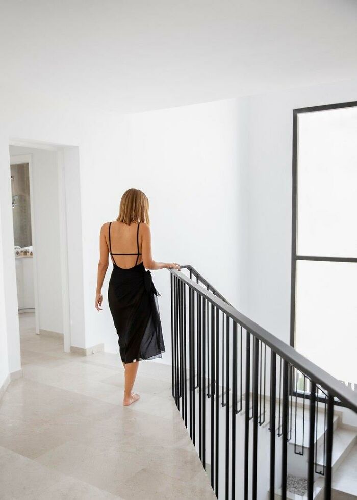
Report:
[[13,142],[9,152],[20,330],[58,337],[70,352],[63,149]]

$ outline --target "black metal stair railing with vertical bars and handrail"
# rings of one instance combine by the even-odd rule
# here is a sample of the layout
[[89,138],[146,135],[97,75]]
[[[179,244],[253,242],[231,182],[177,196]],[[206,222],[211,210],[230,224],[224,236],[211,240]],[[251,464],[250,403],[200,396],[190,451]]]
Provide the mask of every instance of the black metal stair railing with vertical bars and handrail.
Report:
[[181,269],[189,276],[170,269],[172,396],[216,496],[256,500],[269,490],[273,499],[280,489],[285,500],[292,446],[296,460],[307,459],[309,500],[320,476],[330,499],[334,405],[357,413],[357,394],[237,311],[192,266]]

